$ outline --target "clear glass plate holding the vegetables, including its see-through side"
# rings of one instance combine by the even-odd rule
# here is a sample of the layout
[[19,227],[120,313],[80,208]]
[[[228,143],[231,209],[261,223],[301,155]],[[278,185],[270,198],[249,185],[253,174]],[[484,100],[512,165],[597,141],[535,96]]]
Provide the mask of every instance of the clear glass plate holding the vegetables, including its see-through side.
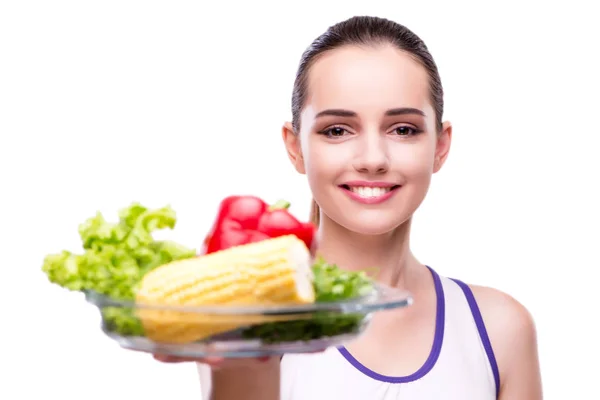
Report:
[[356,339],[373,313],[407,307],[405,290],[375,284],[351,300],[286,306],[146,305],[86,292],[103,332],[121,347],[179,357],[262,357],[310,353]]

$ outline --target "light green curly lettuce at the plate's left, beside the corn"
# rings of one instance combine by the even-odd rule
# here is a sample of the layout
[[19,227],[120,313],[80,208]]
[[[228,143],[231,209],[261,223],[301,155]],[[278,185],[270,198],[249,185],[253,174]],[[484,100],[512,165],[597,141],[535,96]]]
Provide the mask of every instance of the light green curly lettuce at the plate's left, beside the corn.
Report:
[[[196,250],[172,241],[156,241],[154,231],[174,229],[177,217],[170,206],[149,209],[132,203],[116,222],[98,212],[79,225],[82,251],[63,250],[44,258],[42,271],[50,282],[73,291],[94,291],[115,300],[134,300],[141,278],[171,261],[190,258]],[[141,334],[133,310],[104,308],[110,330]]]

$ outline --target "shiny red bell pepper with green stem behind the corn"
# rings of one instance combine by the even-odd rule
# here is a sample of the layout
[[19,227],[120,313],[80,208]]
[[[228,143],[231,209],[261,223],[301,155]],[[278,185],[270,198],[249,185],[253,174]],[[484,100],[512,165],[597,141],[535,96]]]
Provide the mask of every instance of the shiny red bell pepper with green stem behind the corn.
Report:
[[288,211],[289,206],[283,200],[269,206],[256,196],[225,198],[204,240],[204,253],[289,234],[296,235],[311,249],[315,226],[296,219]]

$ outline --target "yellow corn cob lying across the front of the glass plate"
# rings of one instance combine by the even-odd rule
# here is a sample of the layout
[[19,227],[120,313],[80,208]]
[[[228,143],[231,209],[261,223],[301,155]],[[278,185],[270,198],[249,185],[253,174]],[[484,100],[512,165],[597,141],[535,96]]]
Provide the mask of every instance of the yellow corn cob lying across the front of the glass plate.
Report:
[[[308,248],[296,236],[287,235],[158,267],[140,282],[136,302],[173,306],[312,303],[312,279]],[[172,343],[193,342],[243,326],[294,318],[143,308],[137,310],[137,315],[148,338]]]

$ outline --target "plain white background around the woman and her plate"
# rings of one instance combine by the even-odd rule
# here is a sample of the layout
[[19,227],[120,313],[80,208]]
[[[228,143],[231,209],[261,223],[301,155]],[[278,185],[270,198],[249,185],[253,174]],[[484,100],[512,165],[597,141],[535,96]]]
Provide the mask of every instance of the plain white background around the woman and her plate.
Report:
[[527,3],[0,3],[0,398],[200,398],[193,365],[121,350],[41,261],[132,201],[171,204],[161,236],[196,247],[233,193],[306,217],[280,127],[304,48],[356,14],[413,29],[445,86],[454,142],[417,256],[528,307],[545,398],[594,397],[600,33],[583,1]]

